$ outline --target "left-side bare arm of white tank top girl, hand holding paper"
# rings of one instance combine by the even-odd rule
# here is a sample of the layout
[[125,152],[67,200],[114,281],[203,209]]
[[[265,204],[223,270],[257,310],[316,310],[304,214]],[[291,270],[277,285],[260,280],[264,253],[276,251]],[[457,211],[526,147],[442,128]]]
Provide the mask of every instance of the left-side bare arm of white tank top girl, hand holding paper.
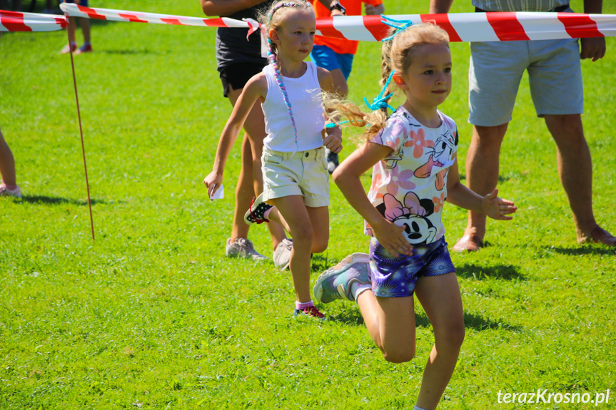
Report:
[[212,172],[203,180],[203,183],[208,187],[208,195],[210,198],[223,183],[225,163],[244,125],[244,121],[246,121],[246,117],[248,117],[248,113],[251,112],[257,99],[265,98],[267,92],[268,83],[264,73],[258,73],[256,76],[253,76],[243,88],[236,105],[233,107],[231,117],[229,117],[223,129],[221,139],[218,140],[218,148],[216,148],[216,158],[214,159]]

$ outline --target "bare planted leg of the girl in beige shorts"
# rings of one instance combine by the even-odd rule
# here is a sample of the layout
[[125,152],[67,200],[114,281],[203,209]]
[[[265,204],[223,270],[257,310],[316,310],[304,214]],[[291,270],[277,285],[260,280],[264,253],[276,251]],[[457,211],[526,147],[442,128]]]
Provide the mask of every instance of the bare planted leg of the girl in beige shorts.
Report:
[[268,217],[281,222],[293,237],[289,268],[297,301],[310,302],[310,253],[313,247],[313,228],[303,197],[291,195],[269,200],[268,203],[276,206],[272,208]]

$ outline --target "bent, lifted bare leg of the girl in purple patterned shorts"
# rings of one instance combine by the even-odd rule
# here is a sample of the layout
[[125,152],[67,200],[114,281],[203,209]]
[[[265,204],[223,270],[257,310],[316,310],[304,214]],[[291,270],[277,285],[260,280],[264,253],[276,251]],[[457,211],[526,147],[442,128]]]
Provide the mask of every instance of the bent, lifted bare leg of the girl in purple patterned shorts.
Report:
[[408,362],[415,356],[413,297],[375,297],[361,292],[357,298],[368,333],[388,362]]

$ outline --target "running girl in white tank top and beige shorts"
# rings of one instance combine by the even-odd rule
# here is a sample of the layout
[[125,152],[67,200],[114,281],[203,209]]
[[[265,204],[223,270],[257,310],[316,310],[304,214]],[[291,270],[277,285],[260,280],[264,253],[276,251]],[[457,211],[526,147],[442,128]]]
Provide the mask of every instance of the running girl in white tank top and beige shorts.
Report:
[[221,187],[226,159],[256,101],[266,120],[263,193],[246,212],[247,223],[279,222],[293,237],[291,275],[294,314],[323,318],[310,298],[310,256],[329,240],[329,173],[325,145],[342,149],[340,129],[327,128],[321,92],[333,93],[329,71],[303,61],[314,44],[316,19],[304,0],[277,1],[263,16],[270,65],[243,88],[216,150],[212,172],[203,180],[210,198]]

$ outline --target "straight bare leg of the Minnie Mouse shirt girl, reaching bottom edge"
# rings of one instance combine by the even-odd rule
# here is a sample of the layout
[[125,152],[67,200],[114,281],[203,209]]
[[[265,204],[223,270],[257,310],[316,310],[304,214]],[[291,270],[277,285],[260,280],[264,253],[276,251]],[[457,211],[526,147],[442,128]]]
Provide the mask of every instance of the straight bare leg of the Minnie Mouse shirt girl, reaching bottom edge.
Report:
[[420,277],[415,294],[432,323],[435,341],[423,371],[417,405],[432,410],[449,383],[464,340],[462,298],[455,273]]

